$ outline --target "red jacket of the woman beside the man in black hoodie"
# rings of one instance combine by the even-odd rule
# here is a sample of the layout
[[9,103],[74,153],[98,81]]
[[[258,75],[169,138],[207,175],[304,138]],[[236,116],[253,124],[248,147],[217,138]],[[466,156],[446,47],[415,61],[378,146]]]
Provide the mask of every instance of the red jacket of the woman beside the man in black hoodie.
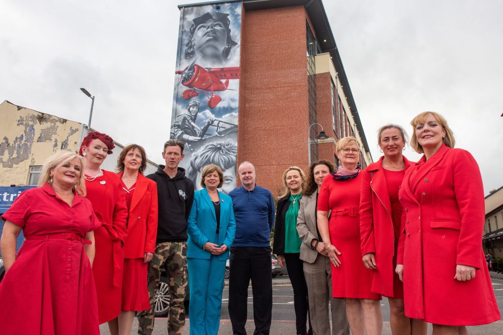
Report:
[[[121,177],[122,173],[119,173]],[[157,184],[138,173],[129,207],[124,258],[143,258],[145,253],[155,254],[157,211]]]

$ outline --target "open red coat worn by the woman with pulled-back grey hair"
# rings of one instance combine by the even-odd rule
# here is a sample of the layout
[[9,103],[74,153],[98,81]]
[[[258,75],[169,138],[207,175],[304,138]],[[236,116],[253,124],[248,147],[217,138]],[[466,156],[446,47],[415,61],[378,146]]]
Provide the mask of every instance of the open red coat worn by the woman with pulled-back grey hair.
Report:
[[[360,193],[360,240],[362,256],[374,253],[377,270],[372,271],[372,292],[393,297],[395,239],[391,218],[391,202],[382,160],[370,164],[362,171]],[[405,171],[413,163],[403,157]],[[398,224],[399,222],[397,222]]]

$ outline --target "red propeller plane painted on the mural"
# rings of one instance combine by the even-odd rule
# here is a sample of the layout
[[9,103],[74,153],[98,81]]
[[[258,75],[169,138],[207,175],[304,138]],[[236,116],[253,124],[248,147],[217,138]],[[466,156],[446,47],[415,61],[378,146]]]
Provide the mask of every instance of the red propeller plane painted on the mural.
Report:
[[189,87],[182,92],[182,97],[189,100],[204,92],[208,97],[207,104],[210,108],[214,108],[222,101],[222,98],[213,92],[230,90],[229,79],[239,79],[238,66],[203,68],[197,64],[191,64],[185,70],[175,71],[175,73],[182,76],[180,78],[182,85]]

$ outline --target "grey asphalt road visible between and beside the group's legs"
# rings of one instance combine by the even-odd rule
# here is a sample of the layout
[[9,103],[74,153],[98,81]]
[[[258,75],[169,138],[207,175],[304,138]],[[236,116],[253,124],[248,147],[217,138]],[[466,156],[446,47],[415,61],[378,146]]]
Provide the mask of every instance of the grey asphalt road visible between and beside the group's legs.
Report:
[[[494,289],[494,294],[496,296],[496,301],[498,303],[499,310],[503,313],[503,278],[496,279],[492,278],[492,285]],[[246,322],[246,330],[249,334],[253,334],[254,322],[253,322],[253,298],[251,297],[251,286],[248,288],[248,321]],[[229,320],[228,312],[228,297],[229,290],[225,286],[222,296],[222,311],[221,311],[221,321],[219,334],[232,334],[232,327]],[[381,301],[381,307],[383,312],[383,334],[391,334],[389,327],[389,304],[386,298]],[[154,327],[154,335],[166,334],[166,318],[156,318]],[[189,320],[184,329],[183,334],[189,335]],[[135,319],[133,323],[133,329],[131,334],[137,334],[138,322]],[[110,334],[108,331],[108,326],[102,324],[100,327],[102,334]],[[503,334],[503,321],[497,321],[488,325],[468,327],[468,332],[471,335],[487,335],[487,334]],[[429,325],[429,334],[432,333],[431,325]],[[295,312],[293,309],[293,290],[288,277],[280,277],[273,279],[273,322],[271,326],[271,334],[278,335],[291,335],[295,334]]]

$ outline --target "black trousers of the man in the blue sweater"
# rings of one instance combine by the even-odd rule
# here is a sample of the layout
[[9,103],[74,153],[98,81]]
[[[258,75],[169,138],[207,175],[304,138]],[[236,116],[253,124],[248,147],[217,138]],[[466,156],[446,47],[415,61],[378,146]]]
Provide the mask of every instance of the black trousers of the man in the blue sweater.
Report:
[[273,309],[270,247],[231,247],[229,316],[234,335],[245,335],[248,285],[253,292],[254,334],[269,334]]

